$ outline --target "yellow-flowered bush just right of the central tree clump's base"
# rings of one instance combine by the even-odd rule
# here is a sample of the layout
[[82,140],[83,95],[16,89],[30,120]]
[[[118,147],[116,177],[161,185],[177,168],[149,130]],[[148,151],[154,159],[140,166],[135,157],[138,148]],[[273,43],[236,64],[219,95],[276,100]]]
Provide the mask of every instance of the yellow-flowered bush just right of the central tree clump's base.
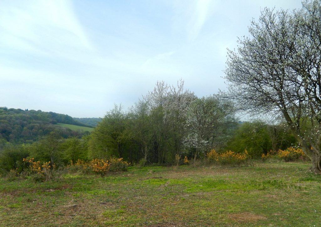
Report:
[[220,164],[241,164],[249,159],[247,150],[244,153],[236,153],[234,151],[225,151],[224,153],[217,153],[216,150],[211,150],[207,154],[207,159],[211,162]]

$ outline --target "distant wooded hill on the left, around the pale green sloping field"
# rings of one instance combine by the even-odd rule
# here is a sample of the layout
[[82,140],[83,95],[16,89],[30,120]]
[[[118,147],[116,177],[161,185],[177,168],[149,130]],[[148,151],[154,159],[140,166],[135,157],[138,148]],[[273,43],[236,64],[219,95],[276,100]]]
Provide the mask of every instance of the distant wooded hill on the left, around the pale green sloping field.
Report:
[[30,143],[52,131],[59,132],[64,138],[89,133],[81,130],[73,131],[70,128],[61,127],[57,123],[92,128],[92,126],[78,122],[66,114],[0,107],[0,145],[4,142]]

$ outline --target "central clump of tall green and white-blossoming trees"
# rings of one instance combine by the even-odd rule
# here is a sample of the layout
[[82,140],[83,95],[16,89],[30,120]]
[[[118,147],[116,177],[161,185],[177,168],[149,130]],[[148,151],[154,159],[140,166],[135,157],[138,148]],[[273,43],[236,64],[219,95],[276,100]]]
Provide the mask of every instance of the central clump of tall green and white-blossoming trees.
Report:
[[175,155],[204,157],[227,140],[235,122],[230,102],[217,97],[197,98],[177,86],[157,82],[152,92],[124,112],[121,106],[108,111],[91,133],[89,157],[119,157],[129,162],[173,164]]

